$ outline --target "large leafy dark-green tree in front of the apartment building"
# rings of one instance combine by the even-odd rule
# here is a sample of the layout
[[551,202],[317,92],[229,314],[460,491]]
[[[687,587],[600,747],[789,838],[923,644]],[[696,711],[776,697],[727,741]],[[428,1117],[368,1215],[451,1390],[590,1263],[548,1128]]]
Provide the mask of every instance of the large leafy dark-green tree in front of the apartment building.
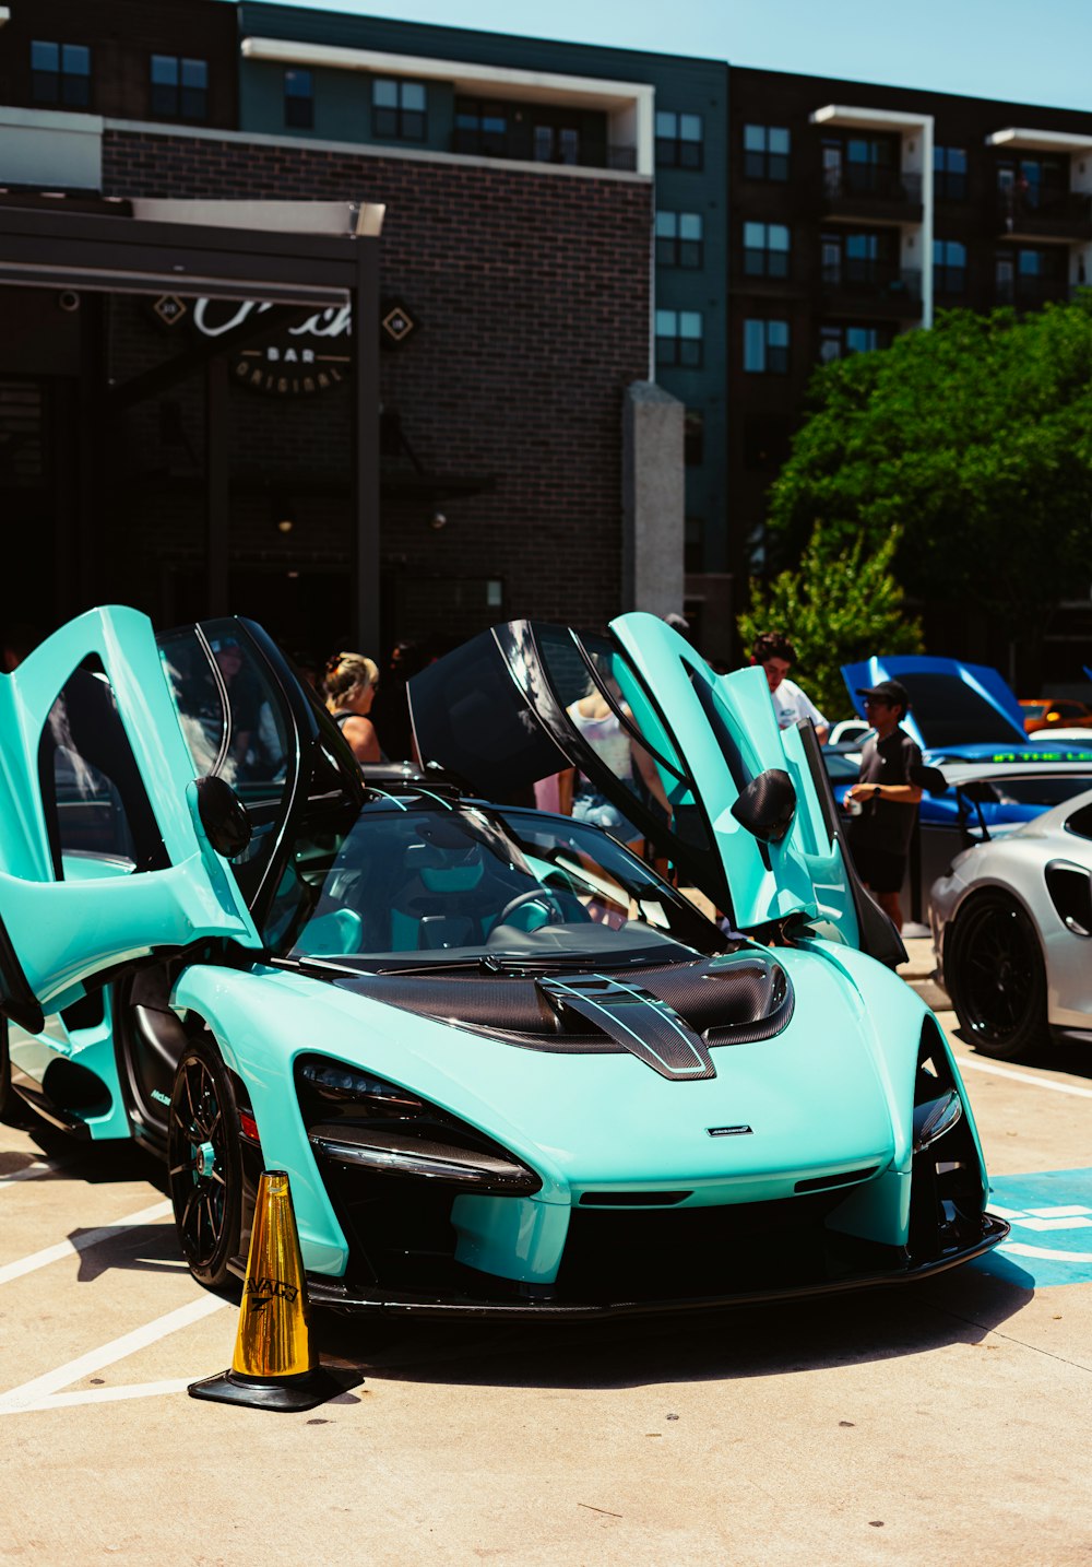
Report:
[[796,559],[899,528],[915,599],[971,600],[1034,639],[1092,580],[1092,291],[1018,317],[953,310],[824,367],[771,490]]

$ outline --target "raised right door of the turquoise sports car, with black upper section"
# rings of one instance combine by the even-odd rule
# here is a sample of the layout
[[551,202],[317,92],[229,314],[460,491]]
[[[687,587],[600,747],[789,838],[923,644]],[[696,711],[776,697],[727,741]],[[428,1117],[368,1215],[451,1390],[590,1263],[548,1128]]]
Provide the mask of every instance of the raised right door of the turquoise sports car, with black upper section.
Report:
[[[716,675],[655,616],[620,616],[609,632],[517,621],[429,666],[410,682],[421,757],[492,796],[577,766],[736,929],[802,915],[899,961],[843,854],[810,726],[780,732],[760,669]],[[589,700],[608,711],[597,730],[581,715]],[[785,820],[757,832],[747,805],[772,784]]]

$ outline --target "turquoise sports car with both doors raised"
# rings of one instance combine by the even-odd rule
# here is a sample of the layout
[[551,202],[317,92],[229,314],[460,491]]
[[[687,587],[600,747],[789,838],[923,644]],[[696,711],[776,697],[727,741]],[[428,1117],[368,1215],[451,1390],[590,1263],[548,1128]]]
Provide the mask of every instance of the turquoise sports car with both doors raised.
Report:
[[[8,1111],[166,1158],[210,1287],[287,1171],[312,1299],[343,1310],[711,1305],[1003,1238],[953,1056],[761,671],[718,677],[647,614],[512,622],[410,707],[423,765],[363,777],[259,627],[122,608],[0,677]],[[489,802],[570,763],[628,846]]]

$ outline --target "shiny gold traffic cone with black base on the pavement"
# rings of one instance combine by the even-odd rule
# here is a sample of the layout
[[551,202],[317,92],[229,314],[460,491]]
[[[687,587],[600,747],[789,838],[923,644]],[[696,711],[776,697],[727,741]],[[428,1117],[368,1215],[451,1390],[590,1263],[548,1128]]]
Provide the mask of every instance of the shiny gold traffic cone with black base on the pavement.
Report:
[[359,1381],[335,1376],[318,1363],[310,1341],[310,1301],[288,1175],[263,1171],[232,1368],[191,1382],[190,1396],[304,1410],[324,1404]]

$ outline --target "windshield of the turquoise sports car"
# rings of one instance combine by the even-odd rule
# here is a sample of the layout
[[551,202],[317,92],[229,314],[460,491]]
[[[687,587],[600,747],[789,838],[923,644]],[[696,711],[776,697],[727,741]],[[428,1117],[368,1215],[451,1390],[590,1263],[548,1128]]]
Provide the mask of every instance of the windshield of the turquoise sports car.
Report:
[[727,939],[595,827],[387,798],[313,820],[265,928],[276,956],[382,968],[672,962]]

